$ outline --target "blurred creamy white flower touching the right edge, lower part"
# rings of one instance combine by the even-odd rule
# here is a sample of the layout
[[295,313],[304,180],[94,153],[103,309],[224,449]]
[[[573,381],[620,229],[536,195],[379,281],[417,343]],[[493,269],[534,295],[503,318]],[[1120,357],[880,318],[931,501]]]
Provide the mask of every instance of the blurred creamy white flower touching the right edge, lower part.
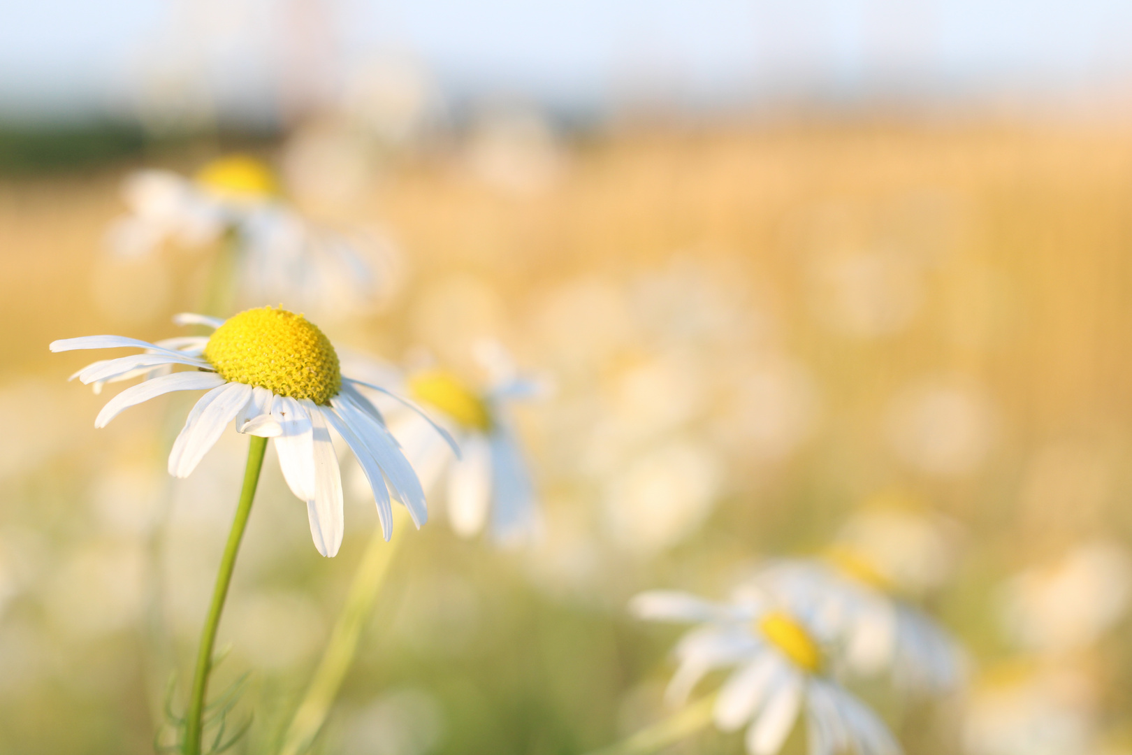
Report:
[[1132,555],[1100,540],[1007,582],[1003,619],[1019,646],[1066,653],[1087,647],[1113,628],[1127,611],[1130,598]]

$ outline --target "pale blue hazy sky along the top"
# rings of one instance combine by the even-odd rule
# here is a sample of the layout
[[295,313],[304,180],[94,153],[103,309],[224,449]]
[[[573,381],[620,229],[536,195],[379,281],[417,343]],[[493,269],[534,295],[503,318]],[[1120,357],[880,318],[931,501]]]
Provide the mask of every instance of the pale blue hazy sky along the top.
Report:
[[1127,0],[0,2],[7,113],[129,111],[170,77],[254,110],[297,69],[341,81],[387,53],[449,94],[567,108],[641,92],[1032,96],[1132,80]]

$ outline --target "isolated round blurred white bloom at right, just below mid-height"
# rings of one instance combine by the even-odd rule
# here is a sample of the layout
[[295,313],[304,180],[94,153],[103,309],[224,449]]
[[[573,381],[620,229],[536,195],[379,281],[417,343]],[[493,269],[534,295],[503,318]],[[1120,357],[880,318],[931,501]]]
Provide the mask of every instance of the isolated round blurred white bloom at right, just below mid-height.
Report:
[[997,415],[983,394],[929,380],[898,395],[885,417],[889,443],[914,467],[937,475],[972,472],[997,436]]

